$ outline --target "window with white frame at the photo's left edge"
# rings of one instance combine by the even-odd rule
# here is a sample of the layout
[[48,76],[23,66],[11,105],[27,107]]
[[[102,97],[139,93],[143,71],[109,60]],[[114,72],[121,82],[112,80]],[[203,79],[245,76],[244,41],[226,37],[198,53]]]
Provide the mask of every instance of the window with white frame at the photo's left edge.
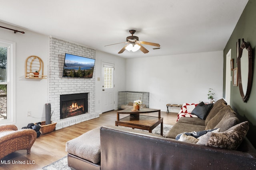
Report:
[[0,124],[15,123],[15,43],[0,39]]

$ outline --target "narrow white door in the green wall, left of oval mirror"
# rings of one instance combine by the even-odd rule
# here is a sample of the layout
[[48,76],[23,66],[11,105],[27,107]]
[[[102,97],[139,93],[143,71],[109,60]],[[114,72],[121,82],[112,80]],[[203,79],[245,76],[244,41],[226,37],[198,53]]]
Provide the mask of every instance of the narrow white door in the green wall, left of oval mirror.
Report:
[[231,66],[230,66],[230,60],[231,60],[231,49],[228,51],[226,55],[226,95],[225,100],[228,105],[230,105],[230,89],[231,89]]

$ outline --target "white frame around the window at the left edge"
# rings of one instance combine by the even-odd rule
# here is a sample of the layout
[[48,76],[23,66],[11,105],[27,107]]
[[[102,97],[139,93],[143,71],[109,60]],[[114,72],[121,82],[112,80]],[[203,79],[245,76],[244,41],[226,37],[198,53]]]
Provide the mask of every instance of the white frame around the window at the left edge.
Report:
[[[7,119],[1,120],[0,124],[16,123],[16,88],[15,88],[15,53],[16,43],[0,39],[0,45],[7,47]],[[1,84],[1,82],[0,82]],[[6,84],[6,83],[3,83]]]

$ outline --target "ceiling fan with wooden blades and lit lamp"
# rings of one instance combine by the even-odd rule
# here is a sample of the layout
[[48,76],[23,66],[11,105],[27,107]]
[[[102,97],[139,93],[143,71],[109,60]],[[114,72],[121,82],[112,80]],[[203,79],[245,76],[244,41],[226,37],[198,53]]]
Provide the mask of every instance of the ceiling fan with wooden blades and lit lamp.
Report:
[[[149,51],[145,47],[143,47],[142,44],[160,47],[160,45],[157,44],[157,43],[139,41],[139,37],[133,36],[134,33],[136,32],[136,30],[134,30],[134,29],[129,30],[129,32],[132,34],[132,36],[126,37],[126,42],[122,42],[122,43],[127,43],[127,44],[118,52],[118,54],[123,53],[125,50],[134,52],[134,51],[137,51],[139,49],[143,53],[148,53]],[[115,44],[120,44],[120,43],[115,43]],[[115,45],[115,44],[110,44],[110,45]],[[109,46],[109,45],[105,45],[104,47],[106,47],[106,46]]]

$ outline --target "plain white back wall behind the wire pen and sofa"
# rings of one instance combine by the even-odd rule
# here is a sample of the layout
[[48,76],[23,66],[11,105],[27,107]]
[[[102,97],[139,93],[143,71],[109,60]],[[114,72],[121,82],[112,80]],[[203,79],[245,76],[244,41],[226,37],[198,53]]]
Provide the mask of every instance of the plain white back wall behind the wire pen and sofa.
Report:
[[150,92],[150,108],[166,111],[166,104],[208,102],[209,88],[220,99],[222,84],[223,51],[126,60],[126,90]]

